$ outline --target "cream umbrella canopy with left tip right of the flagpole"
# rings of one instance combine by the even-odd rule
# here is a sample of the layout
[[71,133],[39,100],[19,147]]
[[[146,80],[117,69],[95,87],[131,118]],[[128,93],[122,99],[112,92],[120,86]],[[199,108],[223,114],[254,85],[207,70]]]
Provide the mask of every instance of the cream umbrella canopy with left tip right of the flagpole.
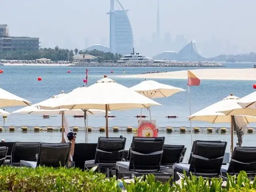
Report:
[[[239,97],[230,95],[223,100],[188,116],[188,119],[207,121],[210,123],[230,123],[230,116],[226,116],[224,113],[219,111],[225,111],[225,109],[229,109],[230,106],[241,108],[241,106],[237,104],[237,101],[239,101]],[[251,116],[243,116],[243,120],[246,123],[256,122],[256,118]]]

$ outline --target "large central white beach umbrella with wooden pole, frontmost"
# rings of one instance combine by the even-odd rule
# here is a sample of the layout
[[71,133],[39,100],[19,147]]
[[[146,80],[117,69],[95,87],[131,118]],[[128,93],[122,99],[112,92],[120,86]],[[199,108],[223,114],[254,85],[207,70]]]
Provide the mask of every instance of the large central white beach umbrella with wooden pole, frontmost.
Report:
[[148,108],[161,105],[130,88],[104,77],[89,87],[68,93],[54,108],[102,109],[106,111],[106,136],[108,137],[107,112],[118,109]]

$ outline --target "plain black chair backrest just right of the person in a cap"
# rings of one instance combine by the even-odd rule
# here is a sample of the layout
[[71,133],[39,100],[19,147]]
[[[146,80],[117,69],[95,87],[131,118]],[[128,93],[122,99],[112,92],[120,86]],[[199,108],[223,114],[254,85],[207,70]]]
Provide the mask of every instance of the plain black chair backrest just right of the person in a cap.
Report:
[[75,143],[73,161],[75,166],[84,169],[84,162],[95,159],[97,143]]

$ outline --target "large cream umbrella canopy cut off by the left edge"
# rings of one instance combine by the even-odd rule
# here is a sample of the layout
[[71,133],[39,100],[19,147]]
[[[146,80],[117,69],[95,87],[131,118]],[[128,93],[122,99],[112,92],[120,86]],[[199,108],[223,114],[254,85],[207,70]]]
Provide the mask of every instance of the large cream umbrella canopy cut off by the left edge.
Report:
[[0,88],[0,107],[30,105],[31,102]]

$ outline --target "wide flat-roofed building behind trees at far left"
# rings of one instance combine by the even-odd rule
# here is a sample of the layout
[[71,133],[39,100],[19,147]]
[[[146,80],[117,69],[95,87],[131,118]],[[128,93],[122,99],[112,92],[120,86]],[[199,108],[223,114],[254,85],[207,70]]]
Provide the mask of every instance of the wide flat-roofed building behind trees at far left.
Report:
[[0,51],[38,51],[39,38],[10,37],[7,24],[0,24]]

